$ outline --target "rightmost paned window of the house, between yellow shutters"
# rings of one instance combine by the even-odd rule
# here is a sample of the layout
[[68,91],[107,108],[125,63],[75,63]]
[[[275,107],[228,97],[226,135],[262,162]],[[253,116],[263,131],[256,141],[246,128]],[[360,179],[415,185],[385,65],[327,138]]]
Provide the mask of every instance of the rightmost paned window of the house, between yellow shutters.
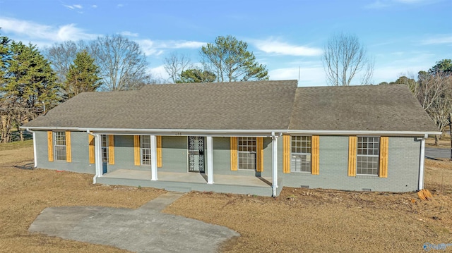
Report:
[[379,175],[379,137],[358,137],[357,174]]

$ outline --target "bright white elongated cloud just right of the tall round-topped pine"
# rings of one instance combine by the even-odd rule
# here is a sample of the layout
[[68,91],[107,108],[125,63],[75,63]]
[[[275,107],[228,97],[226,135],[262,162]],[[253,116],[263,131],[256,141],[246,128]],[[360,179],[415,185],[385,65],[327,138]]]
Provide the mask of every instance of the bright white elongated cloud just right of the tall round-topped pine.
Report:
[[274,39],[254,41],[253,43],[259,50],[268,54],[283,54],[289,56],[319,56],[322,54],[322,49],[316,47],[296,46],[285,42],[279,42]]

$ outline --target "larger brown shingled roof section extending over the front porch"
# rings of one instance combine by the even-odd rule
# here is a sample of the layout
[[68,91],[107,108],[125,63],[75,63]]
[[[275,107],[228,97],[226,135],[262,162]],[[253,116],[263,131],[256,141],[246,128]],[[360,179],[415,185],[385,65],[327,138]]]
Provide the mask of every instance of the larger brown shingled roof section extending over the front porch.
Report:
[[285,130],[297,81],[145,85],[83,92],[25,127]]

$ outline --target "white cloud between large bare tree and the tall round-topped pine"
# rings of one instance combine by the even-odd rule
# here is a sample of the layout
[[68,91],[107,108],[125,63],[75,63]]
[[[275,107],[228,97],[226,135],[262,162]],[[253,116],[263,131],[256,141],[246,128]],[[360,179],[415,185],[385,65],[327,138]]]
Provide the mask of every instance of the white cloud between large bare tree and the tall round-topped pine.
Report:
[[193,41],[153,41],[151,39],[139,39],[136,41],[140,44],[141,49],[148,56],[159,56],[163,54],[165,49],[196,49],[206,44],[205,42],[193,42]]

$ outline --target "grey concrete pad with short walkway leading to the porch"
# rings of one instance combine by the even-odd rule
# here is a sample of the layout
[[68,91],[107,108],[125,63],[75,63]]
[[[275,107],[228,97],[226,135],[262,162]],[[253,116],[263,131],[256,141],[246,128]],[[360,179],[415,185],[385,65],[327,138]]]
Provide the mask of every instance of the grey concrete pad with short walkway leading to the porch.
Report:
[[226,227],[160,212],[182,195],[167,192],[139,209],[49,207],[29,231],[132,252],[217,252],[220,243],[240,236]]

